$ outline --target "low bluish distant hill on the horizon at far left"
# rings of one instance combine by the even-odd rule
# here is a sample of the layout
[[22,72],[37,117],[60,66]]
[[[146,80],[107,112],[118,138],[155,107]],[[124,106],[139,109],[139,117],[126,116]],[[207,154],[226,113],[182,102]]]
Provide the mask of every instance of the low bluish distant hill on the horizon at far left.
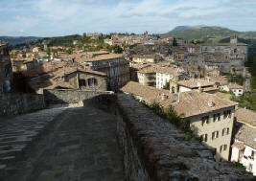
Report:
[[10,45],[23,44],[31,41],[43,39],[43,37],[35,36],[0,36],[0,40],[8,42]]

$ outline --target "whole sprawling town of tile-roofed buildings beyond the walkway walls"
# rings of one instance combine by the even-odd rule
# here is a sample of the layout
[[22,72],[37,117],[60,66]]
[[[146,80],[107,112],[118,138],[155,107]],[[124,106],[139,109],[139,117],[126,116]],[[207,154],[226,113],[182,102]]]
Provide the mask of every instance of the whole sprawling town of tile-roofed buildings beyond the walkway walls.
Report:
[[[38,100],[45,90],[113,91],[167,112],[171,107],[216,161],[241,163],[256,175],[256,113],[233,102],[251,91],[247,52],[236,34],[220,44],[148,32],[86,33],[70,46],[44,40],[12,50],[0,42],[0,95],[9,102],[17,93]],[[2,115],[14,109],[0,107]]]

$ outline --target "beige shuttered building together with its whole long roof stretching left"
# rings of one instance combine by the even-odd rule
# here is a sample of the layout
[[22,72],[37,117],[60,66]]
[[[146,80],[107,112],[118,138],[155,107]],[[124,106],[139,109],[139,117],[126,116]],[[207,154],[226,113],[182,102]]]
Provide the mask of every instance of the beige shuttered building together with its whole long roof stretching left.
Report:
[[199,91],[172,94],[137,82],[128,82],[121,90],[141,101],[159,102],[163,107],[173,105],[177,114],[190,122],[203,144],[214,150],[217,161],[229,159],[236,102]]

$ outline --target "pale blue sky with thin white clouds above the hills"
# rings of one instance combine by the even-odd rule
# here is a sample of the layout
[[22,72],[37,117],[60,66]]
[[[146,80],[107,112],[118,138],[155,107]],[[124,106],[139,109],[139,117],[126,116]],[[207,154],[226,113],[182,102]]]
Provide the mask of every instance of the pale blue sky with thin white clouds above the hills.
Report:
[[163,34],[176,26],[256,31],[256,0],[0,0],[0,35]]

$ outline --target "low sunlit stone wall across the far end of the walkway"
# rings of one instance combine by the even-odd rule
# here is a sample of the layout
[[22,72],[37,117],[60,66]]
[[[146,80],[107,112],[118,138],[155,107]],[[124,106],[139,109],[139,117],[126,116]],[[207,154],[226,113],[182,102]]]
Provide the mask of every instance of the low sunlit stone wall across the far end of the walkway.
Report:
[[102,94],[112,94],[111,91],[88,91],[74,89],[44,89],[43,97],[46,103],[78,103]]

